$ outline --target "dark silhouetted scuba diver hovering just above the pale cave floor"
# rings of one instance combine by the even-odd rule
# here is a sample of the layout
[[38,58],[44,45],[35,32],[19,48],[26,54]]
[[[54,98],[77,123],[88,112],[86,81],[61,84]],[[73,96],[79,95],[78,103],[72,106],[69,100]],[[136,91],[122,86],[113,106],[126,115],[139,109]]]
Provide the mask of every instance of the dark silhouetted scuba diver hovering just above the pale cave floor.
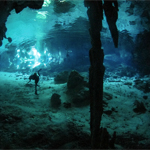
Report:
[[[37,86],[39,86],[37,83],[39,82],[39,76],[40,76],[40,71],[41,71],[42,69],[40,69],[40,70],[38,70],[38,74],[37,73],[34,73],[33,75],[30,75],[29,76],[29,82],[31,82],[31,80],[35,80],[35,94],[37,95]],[[29,83],[28,82],[28,83]],[[28,84],[27,83],[27,84]]]

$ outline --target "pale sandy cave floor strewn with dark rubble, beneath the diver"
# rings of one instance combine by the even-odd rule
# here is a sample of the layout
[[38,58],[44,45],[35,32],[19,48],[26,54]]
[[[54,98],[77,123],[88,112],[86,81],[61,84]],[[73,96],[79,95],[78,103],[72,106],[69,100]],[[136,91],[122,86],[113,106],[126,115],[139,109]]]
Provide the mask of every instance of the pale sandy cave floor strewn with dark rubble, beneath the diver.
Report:
[[[28,76],[0,72],[0,149],[90,149],[89,104],[76,106],[67,83],[49,76],[40,77],[35,95]],[[149,85],[148,76],[105,78],[101,126],[111,136],[116,131],[116,149],[150,148]],[[51,107],[53,93],[61,96],[57,109]]]

